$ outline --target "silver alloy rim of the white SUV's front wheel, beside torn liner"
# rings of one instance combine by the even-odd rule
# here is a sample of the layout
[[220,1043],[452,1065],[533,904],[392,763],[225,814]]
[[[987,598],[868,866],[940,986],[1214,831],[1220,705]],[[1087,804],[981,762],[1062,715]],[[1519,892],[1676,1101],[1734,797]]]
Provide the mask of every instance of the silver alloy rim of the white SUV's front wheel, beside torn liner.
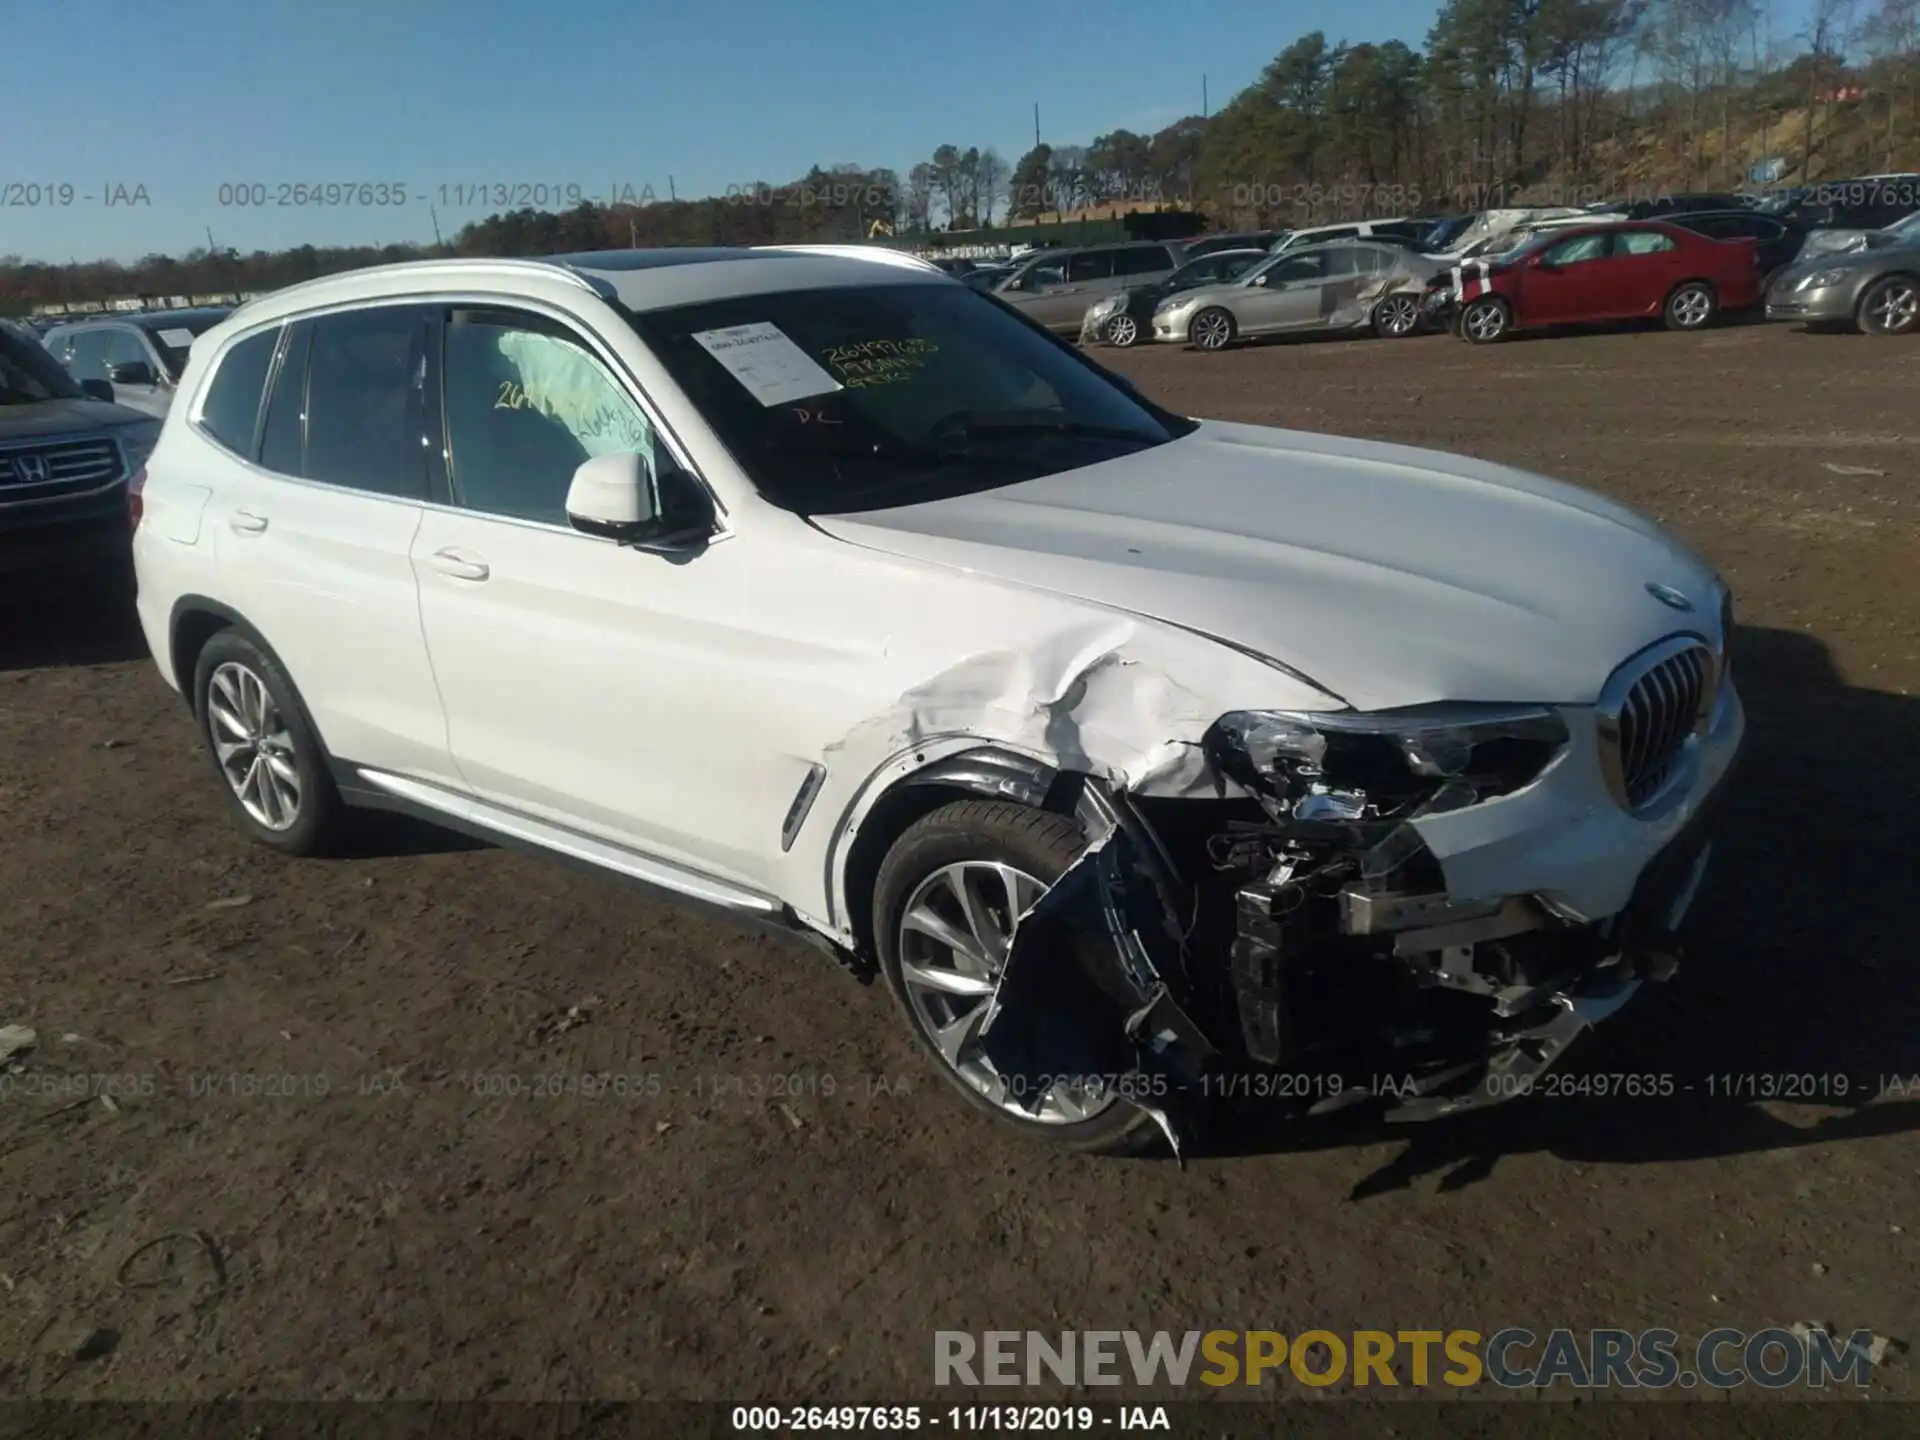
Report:
[[1023,1092],[979,1048],[1014,931],[1046,889],[998,860],[941,866],[906,899],[897,952],[906,1002],[943,1064],[1010,1116],[1075,1125],[1102,1114],[1116,1096],[1069,1081],[1056,1081],[1041,1094]]

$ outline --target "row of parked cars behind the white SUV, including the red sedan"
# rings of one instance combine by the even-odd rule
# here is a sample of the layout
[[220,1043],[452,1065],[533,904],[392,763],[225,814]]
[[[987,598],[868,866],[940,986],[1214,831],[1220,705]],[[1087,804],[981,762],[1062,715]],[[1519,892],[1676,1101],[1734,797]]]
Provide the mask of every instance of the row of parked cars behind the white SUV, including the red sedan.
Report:
[[[1630,319],[1697,330],[1759,305],[1770,319],[1868,334],[1920,326],[1920,215],[1884,230],[1809,230],[1753,205],[1676,205],[1661,219],[1571,209],[1511,217],[1509,228],[1488,228],[1484,217],[1455,228],[1465,244],[1452,252],[1436,252],[1419,221],[1356,223],[1277,236],[1263,257],[1221,250],[1140,280],[1083,259],[1091,250],[1058,252],[1044,271],[1027,269],[1033,290],[1008,282],[998,294],[1062,332],[1081,307],[1083,344],[1152,338],[1194,349],[1288,332],[1404,338],[1432,328],[1492,344],[1517,330]],[[1108,273],[1085,303],[1094,263]],[[1066,284],[1048,284],[1052,276]]]

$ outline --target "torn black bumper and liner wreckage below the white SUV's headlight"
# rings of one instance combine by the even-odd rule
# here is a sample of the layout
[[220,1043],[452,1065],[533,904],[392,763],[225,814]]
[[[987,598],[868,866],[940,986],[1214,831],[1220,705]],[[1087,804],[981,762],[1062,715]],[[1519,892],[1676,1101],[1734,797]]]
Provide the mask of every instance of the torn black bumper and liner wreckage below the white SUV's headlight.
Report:
[[[1367,847],[1300,845],[1221,810],[1260,814],[1254,801],[1089,781],[1089,849],[1020,922],[981,1048],[1027,1092],[1062,1075],[1117,1085],[1175,1152],[1233,1094],[1390,1121],[1526,1094],[1678,970],[1724,781],[1599,920],[1534,895],[1459,902],[1407,824]],[[1196,839],[1196,818],[1215,833]]]

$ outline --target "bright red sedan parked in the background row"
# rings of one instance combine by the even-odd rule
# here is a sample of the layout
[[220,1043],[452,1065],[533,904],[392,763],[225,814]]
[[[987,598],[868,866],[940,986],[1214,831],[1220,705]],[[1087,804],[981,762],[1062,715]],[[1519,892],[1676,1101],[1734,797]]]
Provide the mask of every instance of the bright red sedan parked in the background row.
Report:
[[1427,307],[1455,311],[1455,332],[1476,346],[1588,321],[1665,317],[1670,330],[1699,330],[1761,301],[1755,246],[1661,221],[1582,225],[1442,271],[1427,284]]

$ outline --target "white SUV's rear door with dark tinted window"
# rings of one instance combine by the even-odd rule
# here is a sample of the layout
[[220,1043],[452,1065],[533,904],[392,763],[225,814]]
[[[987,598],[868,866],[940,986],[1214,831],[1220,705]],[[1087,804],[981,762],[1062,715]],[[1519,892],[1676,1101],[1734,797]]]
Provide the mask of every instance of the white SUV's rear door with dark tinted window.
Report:
[[196,417],[244,461],[207,509],[223,595],[286,662],[328,755],[457,783],[409,557],[438,453],[430,311],[374,305],[282,334],[228,351]]

